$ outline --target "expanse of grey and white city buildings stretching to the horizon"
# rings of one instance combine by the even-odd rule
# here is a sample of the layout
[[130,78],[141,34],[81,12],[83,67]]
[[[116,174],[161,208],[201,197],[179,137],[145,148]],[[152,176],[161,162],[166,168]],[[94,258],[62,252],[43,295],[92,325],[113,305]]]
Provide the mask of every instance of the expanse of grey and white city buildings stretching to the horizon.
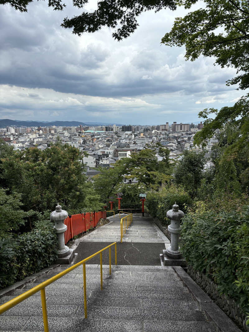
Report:
[[[194,147],[194,135],[203,128],[200,124],[176,123],[162,125],[122,125],[108,126],[44,126],[44,127],[14,127],[0,128],[0,138],[15,150],[37,146],[44,150],[54,144],[59,136],[62,144],[69,144],[88,153],[83,158],[87,167],[87,175],[91,179],[96,175],[97,167],[113,167],[117,160],[129,157],[132,152],[140,151],[148,145],[153,146],[158,160],[156,142],[170,150],[170,159],[181,158],[183,150]],[[210,156],[212,145],[217,140],[210,139],[207,144],[206,157]],[[195,147],[199,149],[198,147]],[[207,162],[206,167],[210,166]],[[124,179],[124,181],[131,181]],[[132,180],[135,181],[135,180]]]

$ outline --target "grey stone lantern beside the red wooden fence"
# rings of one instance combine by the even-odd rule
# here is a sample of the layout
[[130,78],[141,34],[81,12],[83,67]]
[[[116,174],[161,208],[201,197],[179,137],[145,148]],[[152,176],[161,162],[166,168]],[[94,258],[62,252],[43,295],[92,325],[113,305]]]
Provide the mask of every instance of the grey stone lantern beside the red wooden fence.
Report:
[[67,230],[67,226],[64,224],[64,220],[67,218],[68,213],[61,209],[59,203],[55,207],[55,211],[50,213],[50,219],[54,221],[54,228],[57,233],[59,248],[58,258],[69,255],[69,248],[65,246],[64,232]]

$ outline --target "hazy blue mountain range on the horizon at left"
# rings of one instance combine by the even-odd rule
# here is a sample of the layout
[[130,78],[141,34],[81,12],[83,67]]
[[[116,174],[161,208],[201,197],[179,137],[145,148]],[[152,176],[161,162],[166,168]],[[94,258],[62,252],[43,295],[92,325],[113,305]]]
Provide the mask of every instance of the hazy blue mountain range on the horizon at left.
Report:
[[5,128],[6,126],[25,126],[25,127],[39,127],[39,126],[62,126],[62,127],[76,127],[76,126],[86,126],[84,122],[78,121],[53,121],[53,122],[44,122],[44,121],[16,121],[10,119],[0,120],[0,128]]

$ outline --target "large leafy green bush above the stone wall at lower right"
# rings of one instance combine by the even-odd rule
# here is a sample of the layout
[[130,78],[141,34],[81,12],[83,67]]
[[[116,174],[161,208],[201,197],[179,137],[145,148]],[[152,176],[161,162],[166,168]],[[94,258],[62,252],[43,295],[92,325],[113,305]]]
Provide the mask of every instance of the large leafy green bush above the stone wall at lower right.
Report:
[[181,249],[188,264],[248,311],[249,206],[189,213],[182,221]]

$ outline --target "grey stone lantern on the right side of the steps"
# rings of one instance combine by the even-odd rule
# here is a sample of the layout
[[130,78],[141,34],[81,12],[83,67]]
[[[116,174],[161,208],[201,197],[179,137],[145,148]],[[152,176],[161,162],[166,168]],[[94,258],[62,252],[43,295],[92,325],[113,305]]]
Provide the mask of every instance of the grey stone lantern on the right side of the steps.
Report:
[[166,249],[166,255],[178,259],[182,256],[179,250],[179,233],[180,220],[184,217],[184,212],[179,210],[179,206],[175,202],[173,209],[169,210],[166,216],[171,220],[171,224],[168,226],[168,231],[171,233],[171,245]]

